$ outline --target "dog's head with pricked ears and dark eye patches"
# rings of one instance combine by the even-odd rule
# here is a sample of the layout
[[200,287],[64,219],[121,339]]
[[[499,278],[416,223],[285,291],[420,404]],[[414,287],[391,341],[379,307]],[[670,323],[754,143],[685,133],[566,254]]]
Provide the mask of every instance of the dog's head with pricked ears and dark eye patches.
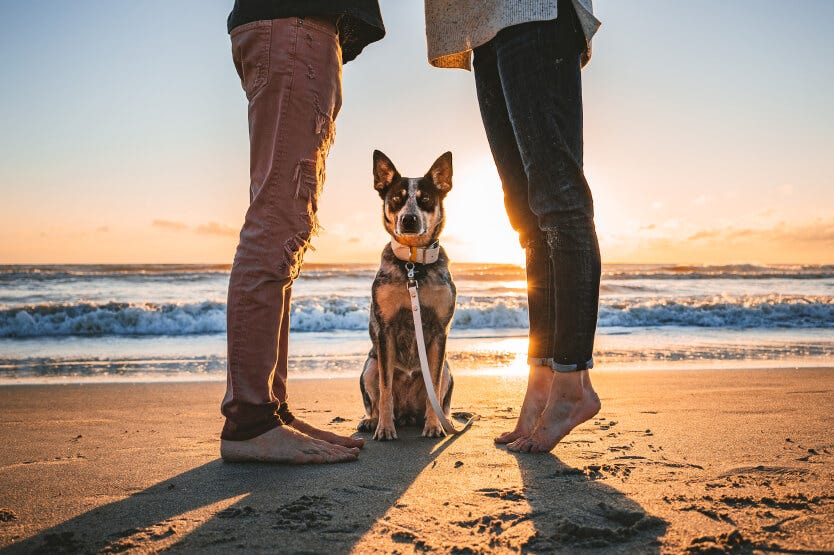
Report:
[[440,156],[423,177],[402,177],[391,160],[375,150],[374,189],[382,197],[386,231],[403,245],[428,246],[443,230],[443,199],[452,189],[452,153]]

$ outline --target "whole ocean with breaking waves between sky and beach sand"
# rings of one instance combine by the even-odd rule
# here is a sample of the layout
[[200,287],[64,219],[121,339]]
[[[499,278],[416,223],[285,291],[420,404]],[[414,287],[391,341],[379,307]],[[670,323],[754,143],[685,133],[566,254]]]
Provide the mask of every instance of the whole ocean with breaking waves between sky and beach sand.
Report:
[[[524,270],[455,264],[456,372],[526,374]],[[290,376],[358,376],[376,266],[310,264]],[[228,265],[0,266],[0,384],[222,380]],[[597,369],[834,362],[834,266],[606,265]]]

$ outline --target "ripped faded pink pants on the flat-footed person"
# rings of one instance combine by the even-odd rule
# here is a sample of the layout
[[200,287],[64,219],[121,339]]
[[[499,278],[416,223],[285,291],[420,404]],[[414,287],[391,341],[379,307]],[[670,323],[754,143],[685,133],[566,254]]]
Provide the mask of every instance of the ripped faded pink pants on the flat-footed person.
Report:
[[288,420],[280,407],[292,283],[317,227],[342,102],[342,54],[327,18],[255,21],[235,28],[231,40],[249,100],[251,181],[229,280],[221,437],[240,441],[281,425],[282,414]]

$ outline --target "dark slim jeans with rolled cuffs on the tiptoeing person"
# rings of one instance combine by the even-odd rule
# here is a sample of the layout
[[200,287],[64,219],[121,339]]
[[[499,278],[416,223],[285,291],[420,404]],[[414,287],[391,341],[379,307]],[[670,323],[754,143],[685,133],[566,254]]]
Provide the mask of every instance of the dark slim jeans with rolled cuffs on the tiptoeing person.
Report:
[[559,17],[503,29],[475,49],[481,117],[510,223],[527,255],[528,364],[593,367],[600,255],[582,170],[581,27]]

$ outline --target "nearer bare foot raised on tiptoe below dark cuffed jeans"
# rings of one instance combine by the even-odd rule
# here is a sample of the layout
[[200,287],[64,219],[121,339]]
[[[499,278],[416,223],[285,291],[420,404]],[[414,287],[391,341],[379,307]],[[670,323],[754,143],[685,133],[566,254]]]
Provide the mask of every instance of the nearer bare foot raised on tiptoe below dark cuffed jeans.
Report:
[[522,436],[507,449],[525,453],[546,453],[556,447],[576,426],[593,418],[600,409],[599,396],[587,370],[554,372],[550,397],[532,433]]

